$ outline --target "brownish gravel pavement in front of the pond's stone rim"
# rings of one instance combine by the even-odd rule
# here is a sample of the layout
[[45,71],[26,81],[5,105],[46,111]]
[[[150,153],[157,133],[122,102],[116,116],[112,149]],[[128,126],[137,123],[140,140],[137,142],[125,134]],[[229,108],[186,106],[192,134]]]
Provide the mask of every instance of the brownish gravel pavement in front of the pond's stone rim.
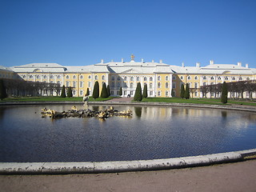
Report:
[[119,174],[0,175],[1,191],[256,191],[256,160]]

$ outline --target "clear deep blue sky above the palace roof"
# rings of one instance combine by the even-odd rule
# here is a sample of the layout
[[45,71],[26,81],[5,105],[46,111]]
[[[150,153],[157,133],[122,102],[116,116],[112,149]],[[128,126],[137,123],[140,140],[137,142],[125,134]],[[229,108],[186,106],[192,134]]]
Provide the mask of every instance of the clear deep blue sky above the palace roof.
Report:
[[256,68],[254,0],[0,0],[0,66],[160,59]]

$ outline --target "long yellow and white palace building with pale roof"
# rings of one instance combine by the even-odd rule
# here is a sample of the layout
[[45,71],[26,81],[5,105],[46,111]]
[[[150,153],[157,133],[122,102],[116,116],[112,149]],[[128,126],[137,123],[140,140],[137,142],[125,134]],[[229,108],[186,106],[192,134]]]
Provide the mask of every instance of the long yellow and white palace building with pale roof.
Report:
[[[74,96],[83,96],[89,88],[90,94],[94,82],[100,86],[103,82],[110,86],[112,95],[117,95],[122,86],[123,97],[128,94],[134,96],[136,85],[141,82],[147,84],[149,97],[179,96],[182,83],[189,83],[194,88],[194,98],[202,97],[200,86],[213,85],[222,82],[238,82],[256,79],[256,69],[242,66],[238,62],[233,64],[214,64],[210,61],[208,66],[170,66],[162,62],[134,61],[134,55],[130,62],[104,62],[103,60],[90,66],[61,66],[57,63],[31,63],[24,66],[10,68],[0,67],[0,78],[12,78],[15,74],[26,81],[54,82],[61,86],[73,87]],[[101,89],[101,87],[100,87]],[[49,93],[46,93],[49,94]],[[244,98],[249,97],[245,93]],[[253,95],[255,98],[255,95]]]

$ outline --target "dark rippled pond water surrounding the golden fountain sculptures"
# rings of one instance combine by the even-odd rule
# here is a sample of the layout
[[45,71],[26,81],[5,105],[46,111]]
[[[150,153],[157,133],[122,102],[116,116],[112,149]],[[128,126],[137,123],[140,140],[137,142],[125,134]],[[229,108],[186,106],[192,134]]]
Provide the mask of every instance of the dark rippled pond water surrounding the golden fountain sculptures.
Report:
[[133,117],[42,118],[44,107],[63,111],[71,106],[0,106],[0,162],[129,161],[256,148],[255,113],[114,106],[132,110]]

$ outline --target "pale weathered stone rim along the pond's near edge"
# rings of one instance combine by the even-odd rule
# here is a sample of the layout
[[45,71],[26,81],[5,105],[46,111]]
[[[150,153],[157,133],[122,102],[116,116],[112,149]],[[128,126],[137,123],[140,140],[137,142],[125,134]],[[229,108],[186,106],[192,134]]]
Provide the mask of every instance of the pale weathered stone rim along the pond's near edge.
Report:
[[98,174],[142,170],[170,170],[255,158],[256,149],[182,158],[116,162],[0,162],[0,174]]

